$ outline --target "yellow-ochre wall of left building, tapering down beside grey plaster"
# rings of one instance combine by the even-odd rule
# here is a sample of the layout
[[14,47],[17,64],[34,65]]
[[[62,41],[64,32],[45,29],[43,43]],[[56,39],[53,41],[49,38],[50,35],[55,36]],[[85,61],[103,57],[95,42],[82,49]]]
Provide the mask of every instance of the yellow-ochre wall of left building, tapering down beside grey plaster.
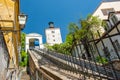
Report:
[[14,62],[15,66],[18,66],[18,46],[20,46],[18,15],[19,0],[0,0],[0,31],[10,30],[4,31],[4,38],[10,54],[10,60],[13,58],[12,62]]

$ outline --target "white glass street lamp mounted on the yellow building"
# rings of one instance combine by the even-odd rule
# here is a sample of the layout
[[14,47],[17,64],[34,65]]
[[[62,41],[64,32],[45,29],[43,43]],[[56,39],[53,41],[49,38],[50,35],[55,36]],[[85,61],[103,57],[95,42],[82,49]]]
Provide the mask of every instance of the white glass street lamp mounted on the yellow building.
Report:
[[19,19],[20,28],[21,28],[21,30],[23,30],[25,27],[26,21],[27,21],[27,15],[21,13],[18,16],[18,19]]

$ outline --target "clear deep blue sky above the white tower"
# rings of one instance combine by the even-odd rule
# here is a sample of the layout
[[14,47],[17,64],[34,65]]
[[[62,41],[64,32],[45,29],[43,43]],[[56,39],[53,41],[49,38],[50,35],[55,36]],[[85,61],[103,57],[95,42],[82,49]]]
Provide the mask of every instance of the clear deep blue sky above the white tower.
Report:
[[48,22],[53,21],[55,27],[60,27],[63,41],[68,33],[70,22],[79,24],[80,18],[92,14],[101,0],[21,0],[21,12],[28,15],[23,32],[39,33],[43,36],[48,28]]

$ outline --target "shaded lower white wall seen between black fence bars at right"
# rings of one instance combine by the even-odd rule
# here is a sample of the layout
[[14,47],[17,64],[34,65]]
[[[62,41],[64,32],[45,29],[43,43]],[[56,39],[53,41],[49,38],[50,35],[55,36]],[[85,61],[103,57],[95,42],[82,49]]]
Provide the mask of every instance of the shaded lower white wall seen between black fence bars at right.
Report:
[[[118,25],[118,28],[120,30],[120,24]],[[116,33],[118,33],[118,32],[117,32],[116,28],[114,28],[109,33],[109,35],[116,34]],[[115,40],[118,40],[118,42],[120,43],[120,35],[113,36],[113,37],[111,37],[111,39],[112,39],[113,42]],[[112,43],[110,42],[110,39],[109,38],[105,38],[105,39],[103,39],[103,42],[104,42],[105,47],[108,47],[108,50],[109,50],[110,55],[111,55],[110,58],[112,60],[116,59],[117,55],[116,55],[115,49],[112,46]],[[103,51],[103,45],[102,45],[101,41],[99,43],[97,43],[97,46],[98,46],[98,49],[99,49],[99,52],[100,52],[101,56],[105,56],[104,55],[104,51]],[[118,54],[120,55],[120,51],[118,51]]]

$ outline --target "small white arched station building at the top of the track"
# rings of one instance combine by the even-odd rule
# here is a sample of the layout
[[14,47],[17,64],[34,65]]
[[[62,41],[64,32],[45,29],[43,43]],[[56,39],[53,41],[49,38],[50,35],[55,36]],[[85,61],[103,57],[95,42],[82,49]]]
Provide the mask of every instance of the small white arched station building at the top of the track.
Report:
[[[35,45],[35,41],[37,41],[37,46]],[[26,45],[25,45],[25,49],[26,52],[28,49],[33,49],[33,48],[37,48],[37,49],[43,49],[43,43],[42,43],[42,35],[37,34],[37,33],[29,33],[26,35]]]

